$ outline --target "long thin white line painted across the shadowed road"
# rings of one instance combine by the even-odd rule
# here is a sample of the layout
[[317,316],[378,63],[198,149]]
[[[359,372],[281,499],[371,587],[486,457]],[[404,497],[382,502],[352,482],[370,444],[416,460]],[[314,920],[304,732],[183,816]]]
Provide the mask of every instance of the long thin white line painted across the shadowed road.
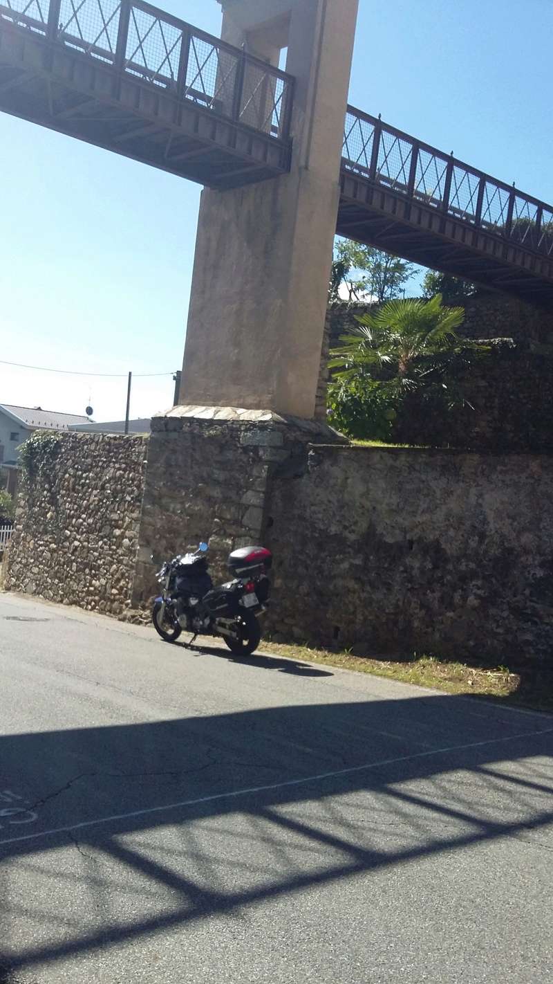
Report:
[[305,786],[311,782],[320,782],[323,779],[340,778],[343,775],[354,775],[366,769],[380,769],[383,766],[397,766],[402,762],[413,762],[415,759],[427,759],[433,755],[448,755],[451,752],[466,752],[473,748],[484,748],[486,745],[499,745],[510,741],[524,740],[525,738],[536,738],[538,735],[553,734],[553,728],[546,728],[540,731],[527,731],[519,735],[508,735],[505,738],[490,738],[486,741],[470,742],[468,745],[450,745],[447,748],[435,748],[430,752],[415,752],[413,755],[404,755],[399,759],[381,759],[380,762],[368,762],[362,766],[352,766],[349,769],[337,769],[332,772],[319,772],[318,775],[306,775],[300,779],[288,779],[285,782],[273,782],[265,786],[250,786],[248,789],[235,789],[226,793],[213,793],[211,796],[200,796],[197,799],[183,800],[180,803],[168,803],[166,806],[152,806],[143,810],[133,810],[131,813],[114,814],[111,817],[99,817],[96,820],[85,820],[80,824],[71,824],[69,827],[56,827],[52,830],[38,830],[35,833],[27,833],[19,837],[10,837],[7,840],[0,840],[0,847],[7,844],[18,844],[28,840],[38,840],[43,837],[54,837],[58,833],[72,833],[74,830],[85,830],[88,827],[100,827],[104,824],[115,824],[121,820],[135,820],[138,817],[148,817],[154,813],[168,813],[172,810],[184,810],[189,806],[200,806],[202,803],[214,803],[217,800],[238,799],[241,796],[251,796],[255,793],[274,792],[278,789],[289,789],[292,786]]

